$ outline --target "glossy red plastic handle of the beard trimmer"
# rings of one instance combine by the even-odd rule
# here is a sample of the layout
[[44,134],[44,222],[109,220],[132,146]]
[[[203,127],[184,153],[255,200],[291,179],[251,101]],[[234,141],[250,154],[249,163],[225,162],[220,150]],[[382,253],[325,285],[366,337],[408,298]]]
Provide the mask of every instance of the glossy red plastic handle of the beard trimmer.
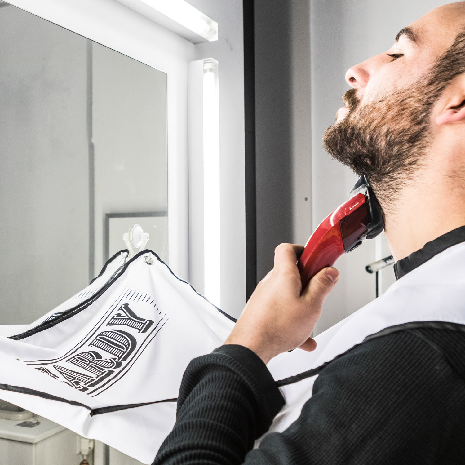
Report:
[[302,252],[297,262],[302,280],[302,289],[306,287],[316,273],[326,268],[326,266],[333,266],[335,261],[344,254],[344,238],[341,233],[340,221],[346,218],[345,221],[350,223],[350,219],[353,218],[355,224],[352,230],[357,231],[360,218],[359,215],[353,213],[365,205],[365,201],[363,193],[352,197],[352,199],[328,215],[310,236],[304,252]]

